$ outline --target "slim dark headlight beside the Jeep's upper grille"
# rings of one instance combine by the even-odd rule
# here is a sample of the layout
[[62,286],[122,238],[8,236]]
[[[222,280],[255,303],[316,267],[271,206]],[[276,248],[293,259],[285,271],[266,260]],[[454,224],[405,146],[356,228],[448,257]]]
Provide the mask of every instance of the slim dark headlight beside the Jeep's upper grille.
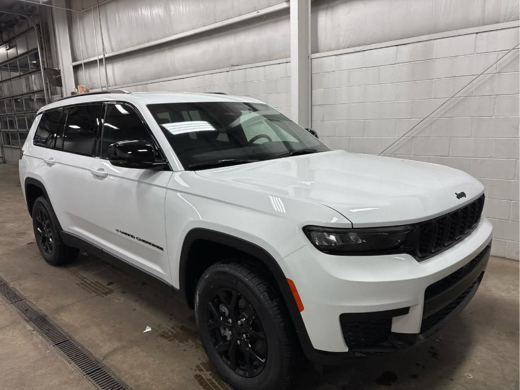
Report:
[[305,226],[305,235],[321,252],[344,255],[410,253],[412,225],[386,228],[335,229]]

